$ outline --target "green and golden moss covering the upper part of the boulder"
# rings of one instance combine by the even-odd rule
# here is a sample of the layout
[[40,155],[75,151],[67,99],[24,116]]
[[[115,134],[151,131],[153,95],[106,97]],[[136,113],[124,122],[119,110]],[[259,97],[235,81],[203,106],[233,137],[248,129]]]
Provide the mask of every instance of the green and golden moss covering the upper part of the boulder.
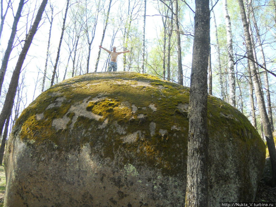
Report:
[[[74,111],[80,110],[81,104],[98,120]],[[151,75],[92,73],[60,82],[45,91],[22,112],[15,128],[21,128],[20,137],[26,142],[40,144],[49,140],[61,151],[88,143],[94,153],[101,148],[102,158],[114,159],[120,154],[122,160],[118,165],[144,163],[164,173],[179,174],[183,171],[179,161],[186,163],[188,104],[189,88]],[[38,120],[36,115],[41,113],[43,117]],[[67,121],[61,128],[53,126],[53,121],[59,119]],[[155,124],[154,132],[150,131],[151,123]],[[246,143],[249,148],[259,139],[238,110],[209,97],[210,137],[217,133],[218,126],[226,127],[225,133],[231,134],[220,136],[218,142],[228,139]],[[136,138],[125,141],[127,136]],[[258,146],[262,148],[261,141]]]

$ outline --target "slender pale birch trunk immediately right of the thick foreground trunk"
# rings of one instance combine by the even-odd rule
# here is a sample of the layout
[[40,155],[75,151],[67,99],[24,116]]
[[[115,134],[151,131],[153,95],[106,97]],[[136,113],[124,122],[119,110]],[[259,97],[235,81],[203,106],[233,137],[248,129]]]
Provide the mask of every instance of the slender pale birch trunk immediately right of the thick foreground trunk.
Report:
[[[213,7],[213,0],[211,0],[210,3],[211,3],[211,7]],[[217,49],[217,61],[218,61],[218,64],[219,64],[220,94],[221,94],[222,100],[226,101],[225,93],[224,93],[224,86],[223,86],[223,78],[222,78],[222,68],[221,68],[221,62],[220,62],[220,44],[219,44],[218,34],[217,34],[217,22],[216,22],[216,17],[215,17],[214,10],[212,10],[212,12],[213,12],[214,25],[215,25],[215,34],[216,34],[216,42],[217,42],[216,49]]]

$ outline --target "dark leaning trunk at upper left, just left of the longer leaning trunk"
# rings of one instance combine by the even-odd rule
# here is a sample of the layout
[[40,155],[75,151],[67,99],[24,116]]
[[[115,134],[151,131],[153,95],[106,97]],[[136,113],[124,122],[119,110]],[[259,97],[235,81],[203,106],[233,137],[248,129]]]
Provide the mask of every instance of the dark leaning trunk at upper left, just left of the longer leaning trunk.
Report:
[[3,57],[3,60],[2,60],[2,65],[1,65],[1,69],[0,69],[0,95],[1,95],[2,85],[3,85],[4,77],[5,77],[5,74],[6,74],[9,58],[10,58],[10,53],[13,49],[13,41],[14,41],[15,34],[16,34],[16,31],[17,31],[17,24],[18,24],[19,18],[21,16],[21,11],[22,11],[22,8],[23,8],[23,5],[24,5],[24,1],[25,0],[20,0],[20,2],[19,2],[17,12],[16,12],[16,15],[15,15],[14,20],[13,20],[13,26],[12,26],[12,31],[11,31],[11,34],[10,34],[10,39],[9,39],[9,42],[8,42],[8,46],[7,46],[7,49],[5,51],[5,54],[4,54],[4,57]]

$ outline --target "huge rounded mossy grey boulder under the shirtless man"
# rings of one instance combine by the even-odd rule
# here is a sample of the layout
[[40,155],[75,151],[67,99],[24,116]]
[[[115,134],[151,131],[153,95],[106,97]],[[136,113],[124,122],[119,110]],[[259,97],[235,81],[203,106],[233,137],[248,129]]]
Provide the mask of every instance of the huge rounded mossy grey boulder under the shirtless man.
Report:
[[[189,88],[134,72],[54,85],[17,120],[6,206],[183,206]],[[209,205],[254,201],[265,145],[237,109],[208,97]]]

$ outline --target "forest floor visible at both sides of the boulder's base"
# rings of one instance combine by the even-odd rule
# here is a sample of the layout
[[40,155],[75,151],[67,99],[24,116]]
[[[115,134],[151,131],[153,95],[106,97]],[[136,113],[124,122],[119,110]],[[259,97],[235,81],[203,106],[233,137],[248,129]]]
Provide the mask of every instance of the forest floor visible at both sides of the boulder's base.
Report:
[[[274,202],[276,203],[276,187],[268,185],[268,178],[262,178],[255,202]],[[0,207],[4,205],[6,190],[6,177],[4,166],[0,166]]]

